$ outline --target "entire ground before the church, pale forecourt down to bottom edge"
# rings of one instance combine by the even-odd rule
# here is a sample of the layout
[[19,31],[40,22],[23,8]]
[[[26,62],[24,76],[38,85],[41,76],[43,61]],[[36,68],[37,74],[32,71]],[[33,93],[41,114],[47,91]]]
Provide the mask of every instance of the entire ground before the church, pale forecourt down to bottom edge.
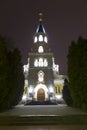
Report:
[[17,105],[0,113],[0,130],[87,130],[87,111],[58,105]]

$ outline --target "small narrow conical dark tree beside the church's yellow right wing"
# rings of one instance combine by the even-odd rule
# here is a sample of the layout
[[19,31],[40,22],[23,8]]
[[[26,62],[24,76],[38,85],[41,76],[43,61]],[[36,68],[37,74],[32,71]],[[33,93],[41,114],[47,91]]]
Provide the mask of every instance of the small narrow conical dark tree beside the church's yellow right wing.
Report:
[[72,106],[73,101],[72,101],[72,97],[71,97],[70,90],[69,90],[69,82],[67,79],[64,80],[62,94],[63,94],[63,99],[66,102],[66,104],[68,106]]

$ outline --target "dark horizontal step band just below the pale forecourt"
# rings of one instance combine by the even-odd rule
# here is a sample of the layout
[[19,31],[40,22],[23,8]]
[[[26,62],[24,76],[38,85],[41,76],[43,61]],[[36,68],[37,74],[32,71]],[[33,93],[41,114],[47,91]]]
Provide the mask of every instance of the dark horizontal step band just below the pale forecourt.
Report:
[[39,115],[39,116],[0,116],[0,125],[70,125],[87,124],[87,115]]

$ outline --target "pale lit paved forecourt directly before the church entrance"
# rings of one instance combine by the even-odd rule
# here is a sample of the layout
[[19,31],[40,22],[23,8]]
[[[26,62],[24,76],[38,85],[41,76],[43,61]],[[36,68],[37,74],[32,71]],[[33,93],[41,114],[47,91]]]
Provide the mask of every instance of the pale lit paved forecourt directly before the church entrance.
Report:
[[66,104],[58,105],[17,105],[0,115],[85,115],[87,112],[68,107]]

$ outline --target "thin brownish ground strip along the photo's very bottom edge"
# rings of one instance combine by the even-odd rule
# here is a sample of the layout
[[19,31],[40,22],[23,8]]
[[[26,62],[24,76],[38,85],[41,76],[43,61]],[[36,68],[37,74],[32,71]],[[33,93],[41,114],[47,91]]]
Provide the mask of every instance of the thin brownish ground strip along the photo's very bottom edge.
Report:
[[87,130],[87,125],[0,126],[0,130]]

